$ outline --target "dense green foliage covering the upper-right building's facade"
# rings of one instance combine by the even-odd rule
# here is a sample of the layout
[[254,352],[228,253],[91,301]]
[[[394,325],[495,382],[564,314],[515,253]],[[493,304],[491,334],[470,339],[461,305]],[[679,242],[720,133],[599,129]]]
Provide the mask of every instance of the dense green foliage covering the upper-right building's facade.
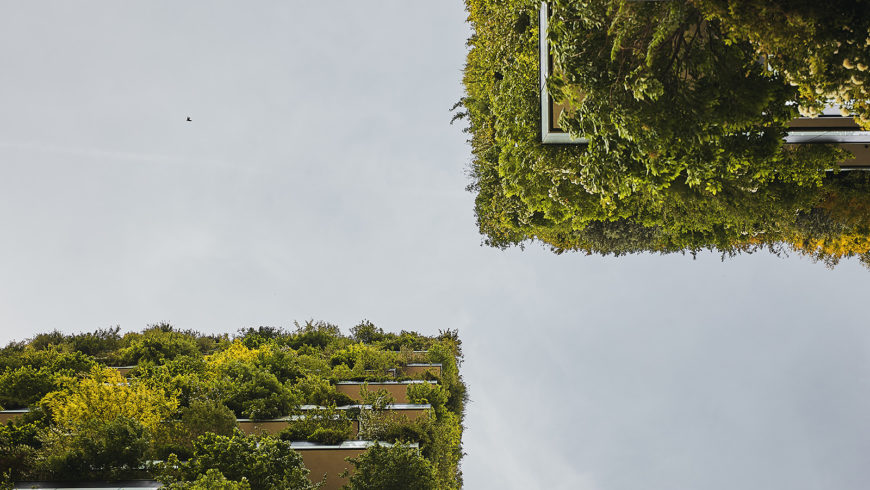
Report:
[[[768,18],[779,15],[755,3]],[[867,236],[863,225],[832,223],[821,237],[806,219],[821,213],[836,220],[822,203],[854,197],[867,189],[866,177],[826,172],[849,156],[840,148],[783,141],[799,106],[817,107],[834,86],[852,87],[836,90],[860,114],[864,48],[846,50],[846,64],[856,67],[848,74],[832,68],[809,80],[790,69],[788,60],[801,55],[784,32],[772,31],[776,23],[758,31],[763,39],[744,35],[735,27],[741,10],[729,2],[549,4],[547,90],[571,108],[560,125],[586,145],[541,143],[540,2],[467,1],[473,34],[457,117],[468,121],[469,189],[487,244],[539,240],[556,251],[602,254],[768,248],[828,263],[870,258],[863,242],[848,239]],[[800,19],[826,32],[824,43],[853,46],[867,37],[866,26],[848,33],[843,22],[831,22],[830,15]],[[773,46],[765,64],[760,50]],[[823,51],[814,52],[830,66],[836,55]]]

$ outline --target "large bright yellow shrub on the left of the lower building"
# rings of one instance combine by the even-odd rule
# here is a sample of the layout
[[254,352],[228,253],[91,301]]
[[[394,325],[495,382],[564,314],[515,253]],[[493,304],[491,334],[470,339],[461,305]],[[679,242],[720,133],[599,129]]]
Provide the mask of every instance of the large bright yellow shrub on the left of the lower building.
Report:
[[128,417],[153,430],[178,408],[176,396],[128,381],[116,369],[94,366],[88,377],[70,378],[63,390],[49,393],[45,403],[60,427]]

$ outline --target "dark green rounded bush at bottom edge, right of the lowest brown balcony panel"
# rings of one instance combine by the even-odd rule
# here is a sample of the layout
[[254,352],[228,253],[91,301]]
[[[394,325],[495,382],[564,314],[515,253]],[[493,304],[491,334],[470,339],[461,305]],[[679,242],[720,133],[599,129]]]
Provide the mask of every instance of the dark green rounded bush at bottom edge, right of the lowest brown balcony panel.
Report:
[[434,490],[432,464],[414,448],[375,444],[356,458],[349,458],[355,472],[350,475],[349,490]]

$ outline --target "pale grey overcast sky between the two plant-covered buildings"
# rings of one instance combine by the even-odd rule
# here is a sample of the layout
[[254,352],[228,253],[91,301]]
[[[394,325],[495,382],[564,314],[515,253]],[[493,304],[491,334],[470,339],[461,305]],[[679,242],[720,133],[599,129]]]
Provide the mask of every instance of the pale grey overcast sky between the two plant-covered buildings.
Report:
[[2,7],[0,344],[458,329],[466,488],[870,481],[857,262],[481,245],[459,0]]

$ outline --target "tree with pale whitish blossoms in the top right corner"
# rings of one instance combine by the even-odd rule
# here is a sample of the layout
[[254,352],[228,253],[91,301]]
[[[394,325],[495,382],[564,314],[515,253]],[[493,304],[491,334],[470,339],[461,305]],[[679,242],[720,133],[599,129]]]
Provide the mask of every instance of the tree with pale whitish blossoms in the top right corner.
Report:
[[691,0],[800,93],[804,115],[835,101],[870,129],[870,2]]

